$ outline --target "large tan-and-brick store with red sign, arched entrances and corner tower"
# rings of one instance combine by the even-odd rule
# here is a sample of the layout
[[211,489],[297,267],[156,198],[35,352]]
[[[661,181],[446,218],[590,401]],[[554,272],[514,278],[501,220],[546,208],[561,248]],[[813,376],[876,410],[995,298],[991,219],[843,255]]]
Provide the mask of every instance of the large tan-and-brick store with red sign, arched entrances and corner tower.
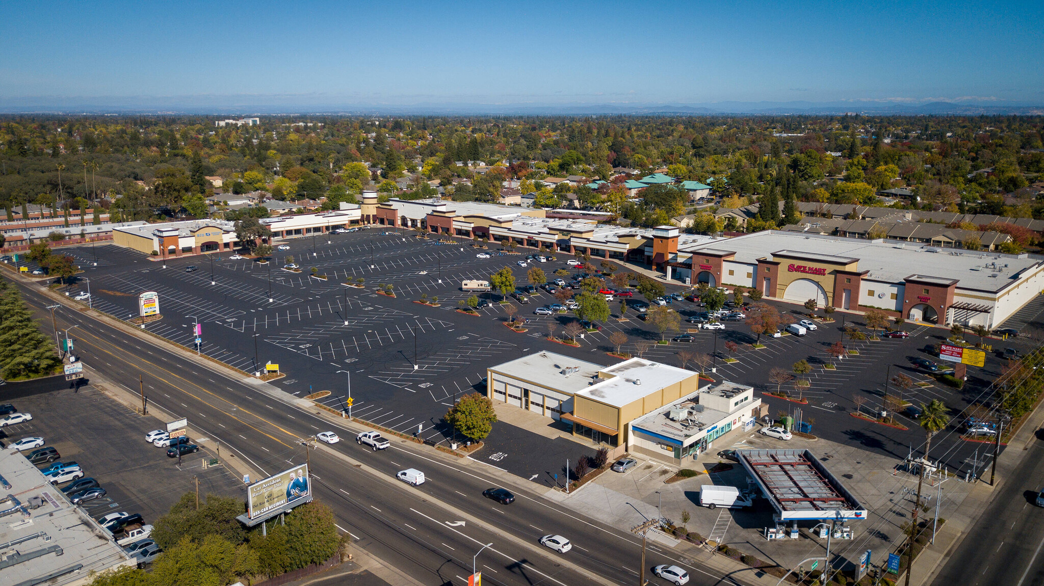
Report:
[[997,327],[1044,290],[1044,263],[1028,254],[778,230],[684,245],[678,228],[656,230],[651,261],[668,279],[796,303]]

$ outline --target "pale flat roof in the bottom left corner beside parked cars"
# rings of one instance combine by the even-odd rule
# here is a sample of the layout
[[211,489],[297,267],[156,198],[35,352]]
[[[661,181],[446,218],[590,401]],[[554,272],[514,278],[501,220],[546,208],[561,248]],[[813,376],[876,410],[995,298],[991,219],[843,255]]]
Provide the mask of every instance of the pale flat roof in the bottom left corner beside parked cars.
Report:
[[14,546],[19,555],[0,566],[0,584],[79,583],[90,571],[130,561],[109,532],[69,503],[22,454],[0,450],[0,475],[10,484],[0,486],[0,510],[16,506],[8,495],[26,506],[32,498],[41,499],[37,509],[0,516],[0,543],[39,534]]

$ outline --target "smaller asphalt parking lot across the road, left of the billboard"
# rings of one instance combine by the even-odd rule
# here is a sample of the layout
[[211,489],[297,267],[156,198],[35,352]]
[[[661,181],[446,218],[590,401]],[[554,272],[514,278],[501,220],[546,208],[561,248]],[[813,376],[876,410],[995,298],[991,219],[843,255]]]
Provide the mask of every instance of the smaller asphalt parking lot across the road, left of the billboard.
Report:
[[[0,429],[5,444],[39,436],[57,448],[61,462],[76,462],[85,478],[93,478],[106,495],[89,500],[84,509],[93,517],[114,511],[141,513],[152,522],[167,513],[182,494],[219,493],[241,496],[242,481],[223,466],[204,469],[206,449],[182,458],[168,458],[166,448],[145,443],[145,434],[162,428],[151,416],[142,416],[90,385],[78,391],[61,390],[11,400],[32,420]],[[196,438],[191,438],[195,443]],[[40,465],[44,467],[43,464]],[[64,485],[63,485],[64,486]]]

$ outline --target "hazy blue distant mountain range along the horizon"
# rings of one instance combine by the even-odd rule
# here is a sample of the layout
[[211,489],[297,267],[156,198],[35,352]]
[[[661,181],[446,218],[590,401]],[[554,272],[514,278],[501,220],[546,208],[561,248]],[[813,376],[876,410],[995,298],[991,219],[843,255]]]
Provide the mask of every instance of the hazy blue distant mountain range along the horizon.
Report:
[[711,102],[711,103],[480,103],[419,102],[412,104],[350,104],[319,96],[167,96],[97,98],[7,98],[4,114],[146,114],[146,115],[393,115],[393,116],[716,116],[716,115],[841,115],[869,116],[1040,116],[1044,105],[934,101],[903,103],[850,102]]

